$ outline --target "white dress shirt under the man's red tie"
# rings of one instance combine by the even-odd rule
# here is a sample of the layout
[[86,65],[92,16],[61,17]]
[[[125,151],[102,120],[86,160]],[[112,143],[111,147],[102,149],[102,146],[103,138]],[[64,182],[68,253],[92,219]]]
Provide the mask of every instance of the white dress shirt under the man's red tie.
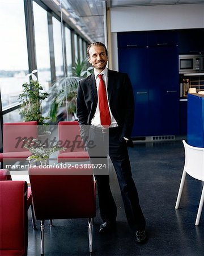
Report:
[[[95,76],[95,80],[96,80],[96,89],[97,89],[97,96],[99,98],[99,77],[98,75],[102,75],[102,78],[104,80],[104,84],[105,84],[105,89],[107,92],[107,100],[108,100],[108,90],[107,90],[107,85],[108,85],[108,69],[105,68],[102,72],[98,73],[97,71],[95,71],[94,69],[94,76]],[[109,113],[111,115],[111,125],[109,127],[116,127],[118,126],[116,119],[114,119],[112,113],[111,113],[111,109],[109,106],[109,102],[108,102],[108,108],[109,108]],[[100,111],[99,111],[99,101],[97,102],[97,106],[96,106],[96,112],[94,114],[94,118],[91,120],[91,125],[97,126],[97,127],[103,127],[100,123]]]

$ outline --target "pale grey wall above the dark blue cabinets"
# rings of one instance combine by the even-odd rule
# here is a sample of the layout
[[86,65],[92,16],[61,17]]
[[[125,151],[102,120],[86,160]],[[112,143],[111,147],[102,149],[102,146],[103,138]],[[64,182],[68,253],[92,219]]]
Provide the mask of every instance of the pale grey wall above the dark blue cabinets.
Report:
[[[117,32],[204,27],[204,4],[114,7],[111,13],[112,69],[118,70]],[[116,48],[116,49],[115,49]]]

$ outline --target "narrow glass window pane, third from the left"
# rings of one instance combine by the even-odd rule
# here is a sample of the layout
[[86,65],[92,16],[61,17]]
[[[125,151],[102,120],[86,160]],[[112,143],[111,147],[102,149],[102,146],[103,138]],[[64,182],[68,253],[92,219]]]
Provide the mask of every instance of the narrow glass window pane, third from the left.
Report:
[[54,60],[56,77],[63,77],[62,33],[61,23],[53,17]]

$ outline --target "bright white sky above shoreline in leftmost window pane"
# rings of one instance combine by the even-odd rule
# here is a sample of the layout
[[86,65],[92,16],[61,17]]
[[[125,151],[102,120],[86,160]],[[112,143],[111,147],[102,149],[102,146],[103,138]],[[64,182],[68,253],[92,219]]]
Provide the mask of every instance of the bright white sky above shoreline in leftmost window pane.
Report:
[[0,1],[0,70],[28,69],[23,0]]

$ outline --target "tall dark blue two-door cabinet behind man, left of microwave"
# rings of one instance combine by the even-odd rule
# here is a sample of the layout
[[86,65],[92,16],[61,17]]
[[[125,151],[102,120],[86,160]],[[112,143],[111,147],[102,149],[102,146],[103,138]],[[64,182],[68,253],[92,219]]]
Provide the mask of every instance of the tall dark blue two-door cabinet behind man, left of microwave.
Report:
[[132,137],[179,134],[176,46],[118,47],[118,64],[121,72],[128,73],[134,90]]

